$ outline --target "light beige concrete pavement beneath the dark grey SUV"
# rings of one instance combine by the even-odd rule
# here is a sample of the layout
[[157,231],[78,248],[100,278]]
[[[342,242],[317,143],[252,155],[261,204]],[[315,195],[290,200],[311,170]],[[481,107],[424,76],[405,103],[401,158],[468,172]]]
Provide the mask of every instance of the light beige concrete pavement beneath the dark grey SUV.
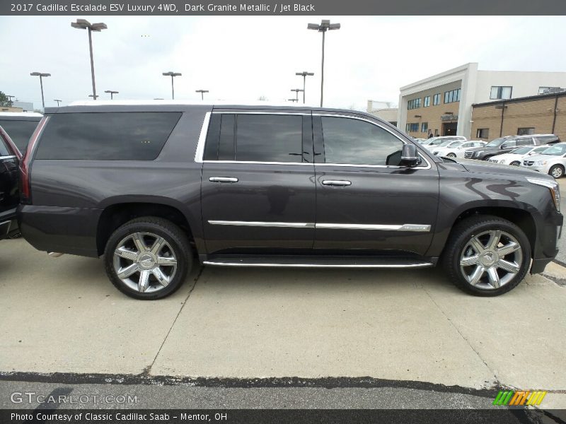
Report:
[[102,261],[51,259],[24,240],[0,242],[0,270],[2,372],[370,376],[550,390],[566,407],[566,287],[545,276],[475,298],[435,269],[208,267],[143,302]]

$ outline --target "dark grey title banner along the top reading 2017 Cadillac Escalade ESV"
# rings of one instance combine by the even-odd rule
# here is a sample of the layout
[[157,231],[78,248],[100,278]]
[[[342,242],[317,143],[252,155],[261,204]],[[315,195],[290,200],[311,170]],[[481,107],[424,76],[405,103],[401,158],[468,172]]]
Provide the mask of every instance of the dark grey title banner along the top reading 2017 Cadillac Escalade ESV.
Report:
[[566,15],[565,0],[1,0],[0,15]]

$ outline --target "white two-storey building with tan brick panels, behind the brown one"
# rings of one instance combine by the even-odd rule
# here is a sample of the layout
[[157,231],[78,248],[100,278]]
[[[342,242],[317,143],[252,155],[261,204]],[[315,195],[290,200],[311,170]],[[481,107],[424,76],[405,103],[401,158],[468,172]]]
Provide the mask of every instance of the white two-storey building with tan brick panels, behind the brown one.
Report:
[[398,128],[413,137],[471,134],[472,105],[566,88],[566,72],[480,71],[469,63],[400,88]]

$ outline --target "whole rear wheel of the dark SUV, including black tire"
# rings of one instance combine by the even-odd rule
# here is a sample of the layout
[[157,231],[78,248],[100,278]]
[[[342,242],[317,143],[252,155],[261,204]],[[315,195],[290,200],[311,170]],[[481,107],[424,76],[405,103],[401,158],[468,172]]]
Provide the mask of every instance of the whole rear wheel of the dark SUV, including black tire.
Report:
[[146,216],[125,223],[110,235],[104,263],[108,278],[122,293],[156,300],[171,295],[183,284],[192,268],[192,252],[187,236],[177,225]]

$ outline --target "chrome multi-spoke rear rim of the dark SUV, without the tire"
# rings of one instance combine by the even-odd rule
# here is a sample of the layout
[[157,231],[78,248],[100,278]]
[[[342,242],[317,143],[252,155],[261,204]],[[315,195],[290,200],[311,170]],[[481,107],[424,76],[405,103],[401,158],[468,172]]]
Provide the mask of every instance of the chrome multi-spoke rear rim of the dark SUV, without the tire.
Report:
[[139,293],[166,288],[177,272],[177,259],[171,245],[151,232],[134,232],[120,240],[114,251],[113,265],[122,283]]

